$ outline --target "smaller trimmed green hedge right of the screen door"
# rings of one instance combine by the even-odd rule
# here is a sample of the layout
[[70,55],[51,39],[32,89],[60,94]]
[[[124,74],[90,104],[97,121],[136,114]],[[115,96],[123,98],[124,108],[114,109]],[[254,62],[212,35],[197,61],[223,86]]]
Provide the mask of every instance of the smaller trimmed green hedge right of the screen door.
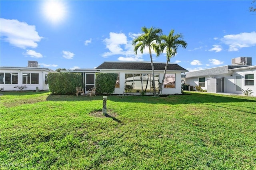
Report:
[[99,94],[114,93],[117,76],[117,73],[96,73],[96,92]]

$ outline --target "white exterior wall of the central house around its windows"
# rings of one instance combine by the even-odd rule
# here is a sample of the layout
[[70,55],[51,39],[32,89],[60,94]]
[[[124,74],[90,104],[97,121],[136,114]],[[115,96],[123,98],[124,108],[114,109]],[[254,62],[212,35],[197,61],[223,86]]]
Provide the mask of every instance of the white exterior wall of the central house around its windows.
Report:
[[[120,88],[115,88],[113,94],[122,95],[124,93],[124,84],[125,84],[125,74],[152,74],[152,71],[143,71],[143,70],[101,70],[102,73],[120,73]],[[159,74],[160,82],[164,76],[164,71],[154,71],[155,74]],[[167,71],[166,74],[176,74],[176,86],[175,88],[163,88],[162,95],[174,95],[181,94],[181,72]]]

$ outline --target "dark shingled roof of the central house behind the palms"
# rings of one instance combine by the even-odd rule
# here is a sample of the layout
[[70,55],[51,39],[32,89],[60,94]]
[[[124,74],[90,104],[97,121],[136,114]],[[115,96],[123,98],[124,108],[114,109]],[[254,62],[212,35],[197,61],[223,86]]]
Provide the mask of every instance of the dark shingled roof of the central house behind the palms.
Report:
[[[165,63],[154,63],[154,70],[164,70]],[[96,69],[152,70],[150,62],[104,62]],[[168,71],[188,71],[176,63],[170,63]]]

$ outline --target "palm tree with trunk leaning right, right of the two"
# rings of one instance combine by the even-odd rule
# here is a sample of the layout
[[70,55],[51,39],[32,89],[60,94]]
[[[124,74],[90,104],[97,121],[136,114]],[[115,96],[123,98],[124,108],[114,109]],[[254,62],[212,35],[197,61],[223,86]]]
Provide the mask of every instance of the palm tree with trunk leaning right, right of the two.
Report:
[[[164,49],[166,49],[166,58],[167,58],[165,68],[164,68],[164,77],[166,75],[166,70],[167,70],[170,58],[174,57],[177,54],[178,47],[182,47],[182,48],[187,47],[186,41],[182,39],[183,38],[182,34],[175,34],[175,35],[173,34],[174,34],[174,30],[171,30],[168,36],[166,35],[161,36],[162,42],[160,44],[160,50],[161,52],[163,52]],[[162,90],[162,87],[164,84],[164,77],[162,79],[162,83],[160,84],[158,95]]]

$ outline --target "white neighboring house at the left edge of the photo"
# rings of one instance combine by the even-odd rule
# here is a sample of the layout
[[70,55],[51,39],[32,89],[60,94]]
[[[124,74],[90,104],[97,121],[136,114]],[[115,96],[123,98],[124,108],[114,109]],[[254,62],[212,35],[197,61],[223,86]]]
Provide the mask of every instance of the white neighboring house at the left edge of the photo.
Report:
[[14,91],[14,86],[26,85],[24,90],[49,90],[47,75],[56,72],[40,67],[0,67],[0,87],[4,91]]

